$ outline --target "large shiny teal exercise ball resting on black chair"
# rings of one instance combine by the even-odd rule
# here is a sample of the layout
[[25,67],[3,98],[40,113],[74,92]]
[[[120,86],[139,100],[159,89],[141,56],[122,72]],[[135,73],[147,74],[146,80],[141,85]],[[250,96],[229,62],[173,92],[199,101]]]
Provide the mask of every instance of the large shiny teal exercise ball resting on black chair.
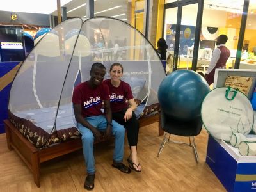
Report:
[[200,116],[201,105],[210,88],[193,70],[176,70],[166,76],[158,89],[161,109],[172,118],[192,120]]

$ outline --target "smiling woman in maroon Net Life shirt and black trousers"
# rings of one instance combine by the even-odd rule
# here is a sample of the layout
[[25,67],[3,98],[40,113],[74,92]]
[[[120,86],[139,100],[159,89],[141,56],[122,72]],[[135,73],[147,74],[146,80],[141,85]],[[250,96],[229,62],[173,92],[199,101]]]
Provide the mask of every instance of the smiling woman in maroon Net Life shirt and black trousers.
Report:
[[141,172],[141,165],[137,156],[139,122],[134,113],[137,105],[132,96],[131,87],[120,79],[123,75],[123,66],[120,63],[113,63],[109,74],[111,79],[105,80],[104,83],[109,87],[112,118],[118,124],[124,125],[127,131],[127,139],[131,150],[127,159],[129,167],[136,172]]

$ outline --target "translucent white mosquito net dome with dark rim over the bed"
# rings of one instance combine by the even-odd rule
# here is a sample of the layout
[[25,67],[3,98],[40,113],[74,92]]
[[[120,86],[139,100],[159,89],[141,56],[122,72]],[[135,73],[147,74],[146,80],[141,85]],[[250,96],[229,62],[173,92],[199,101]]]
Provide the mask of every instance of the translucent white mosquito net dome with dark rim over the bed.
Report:
[[107,72],[112,63],[122,63],[123,80],[141,100],[138,118],[143,109],[158,103],[158,87],[166,73],[145,36],[120,20],[73,18],[46,33],[22,63],[10,92],[10,114],[49,134],[76,127],[72,92],[77,83],[90,79],[95,62],[103,63]]

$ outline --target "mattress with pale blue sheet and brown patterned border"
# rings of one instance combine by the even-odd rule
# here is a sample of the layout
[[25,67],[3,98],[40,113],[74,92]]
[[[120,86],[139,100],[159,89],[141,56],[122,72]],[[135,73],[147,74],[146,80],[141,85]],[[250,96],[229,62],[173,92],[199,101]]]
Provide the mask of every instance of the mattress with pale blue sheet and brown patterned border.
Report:
[[[70,107],[70,105],[60,106],[57,116],[56,107],[30,109],[15,113],[8,111],[8,113],[10,122],[15,125],[24,137],[36,148],[45,148],[80,137],[80,133],[76,128],[72,106]],[[146,107],[142,103],[135,113],[137,118],[145,118],[156,115],[159,111],[158,103]]]

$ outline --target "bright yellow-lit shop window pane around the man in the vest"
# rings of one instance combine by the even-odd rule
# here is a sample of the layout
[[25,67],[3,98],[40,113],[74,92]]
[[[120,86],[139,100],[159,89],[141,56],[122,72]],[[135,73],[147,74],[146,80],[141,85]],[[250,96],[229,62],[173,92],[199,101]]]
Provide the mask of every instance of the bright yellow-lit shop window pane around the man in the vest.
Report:
[[[198,52],[198,63],[199,61],[202,62],[198,64],[198,71],[205,72],[207,70],[211,61],[211,52],[214,49],[212,44],[216,44],[216,38],[221,34],[228,36],[226,46],[231,52],[227,61],[227,68],[234,67],[243,3],[244,0],[236,2],[227,0],[221,1],[221,3],[211,0],[204,1],[200,49]],[[210,49],[209,57],[206,53],[207,49]]]

